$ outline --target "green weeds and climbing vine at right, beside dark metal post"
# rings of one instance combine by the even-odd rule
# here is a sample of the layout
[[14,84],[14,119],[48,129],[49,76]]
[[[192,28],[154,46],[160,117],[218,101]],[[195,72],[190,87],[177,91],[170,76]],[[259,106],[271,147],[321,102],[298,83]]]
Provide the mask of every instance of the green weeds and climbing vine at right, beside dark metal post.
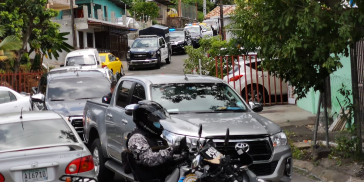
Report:
[[[360,142],[356,133],[357,126],[351,125],[354,114],[354,105],[351,101],[352,93],[344,84],[342,84],[342,87],[338,91],[345,98],[341,103],[343,103],[343,111],[348,111],[347,114],[344,112],[343,117],[349,125],[347,129],[349,135],[338,135],[339,137],[336,137],[335,142],[337,143],[337,146],[332,150],[331,155],[340,158],[353,157],[354,159],[359,159],[360,149],[356,147]],[[335,114],[337,114],[337,112],[335,112]]]

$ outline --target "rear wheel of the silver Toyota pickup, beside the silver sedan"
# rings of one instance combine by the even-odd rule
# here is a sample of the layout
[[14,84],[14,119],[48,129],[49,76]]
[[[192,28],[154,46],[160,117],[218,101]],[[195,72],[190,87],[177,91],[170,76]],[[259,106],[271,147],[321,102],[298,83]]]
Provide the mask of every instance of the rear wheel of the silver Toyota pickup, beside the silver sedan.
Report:
[[114,172],[105,167],[106,159],[102,154],[100,139],[95,139],[91,146],[91,154],[94,159],[95,172],[99,182],[114,180]]

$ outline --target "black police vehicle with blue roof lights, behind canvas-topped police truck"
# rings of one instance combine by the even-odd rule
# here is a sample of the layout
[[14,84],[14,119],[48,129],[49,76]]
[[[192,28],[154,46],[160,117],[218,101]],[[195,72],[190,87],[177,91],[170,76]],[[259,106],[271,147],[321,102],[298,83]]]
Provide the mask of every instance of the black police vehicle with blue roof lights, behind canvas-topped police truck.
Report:
[[185,46],[192,45],[190,32],[184,28],[169,29],[169,37],[172,45],[172,52],[185,52]]

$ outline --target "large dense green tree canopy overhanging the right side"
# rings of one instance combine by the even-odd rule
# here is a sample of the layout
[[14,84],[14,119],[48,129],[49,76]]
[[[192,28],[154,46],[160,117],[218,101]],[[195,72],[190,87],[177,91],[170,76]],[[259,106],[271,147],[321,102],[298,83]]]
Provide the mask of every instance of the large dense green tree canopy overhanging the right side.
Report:
[[310,88],[323,91],[324,78],[342,67],[340,55],[363,37],[363,11],[343,8],[340,0],[236,3],[229,27],[236,42],[247,51],[260,48],[263,68],[295,86],[298,99]]

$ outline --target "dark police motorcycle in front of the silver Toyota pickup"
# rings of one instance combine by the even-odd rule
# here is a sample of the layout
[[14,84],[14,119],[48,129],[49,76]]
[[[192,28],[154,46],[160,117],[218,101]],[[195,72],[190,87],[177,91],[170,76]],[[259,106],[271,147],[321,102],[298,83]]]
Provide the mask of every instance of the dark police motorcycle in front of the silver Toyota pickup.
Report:
[[[243,149],[236,149],[238,159],[231,159],[227,154],[229,128],[226,129],[224,141],[225,155],[215,149],[215,143],[208,140],[201,144],[202,125],[199,125],[198,140],[195,149],[182,153],[185,162],[181,163],[166,182],[266,182],[248,169],[253,158]],[[181,160],[181,159],[179,159]]]

